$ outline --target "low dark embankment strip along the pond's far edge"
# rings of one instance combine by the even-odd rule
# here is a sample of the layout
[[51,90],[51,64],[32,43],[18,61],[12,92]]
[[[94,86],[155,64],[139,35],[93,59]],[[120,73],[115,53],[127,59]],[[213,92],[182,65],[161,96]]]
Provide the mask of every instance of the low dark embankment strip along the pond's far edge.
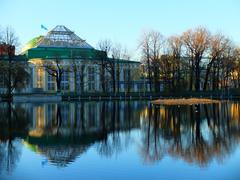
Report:
[[[240,94],[220,94],[210,92],[198,93],[172,93],[172,94],[154,94],[154,93],[19,93],[13,94],[13,102],[64,102],[64,101],[100,101],[100,100],[146,100],[154,101],[158,99],[187,99],[200,98],[211,100],[240,100]],[[0,102],[8,101],[4,94],[0,97]]]

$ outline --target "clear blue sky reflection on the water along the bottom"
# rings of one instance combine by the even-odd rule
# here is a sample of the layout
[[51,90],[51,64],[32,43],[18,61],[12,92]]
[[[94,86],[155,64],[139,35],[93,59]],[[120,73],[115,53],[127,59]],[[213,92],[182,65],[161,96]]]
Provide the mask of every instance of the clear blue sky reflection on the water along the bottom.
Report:
[[[138,131],[131,133],[131,139],[136,139]],[[138,138],[138,137],[137,137]],[[118,156],[108,158],[100,156],[96,146],[92,146],[74,163],[58,168],[51,163],[42,165],[46,158],[36,154],[23,146],[22,157],[17,163],[17,168],[10,179],[236,179],[240,161],[240,148],[224,161],[213,161],[211,166],[200,168],[194,164],[188,164],[180,159],[165,156],[160,162],[146,165],[137,154],[137,142],[133,141],[130,146]],[[4,177],[5,178],[5,177]]]

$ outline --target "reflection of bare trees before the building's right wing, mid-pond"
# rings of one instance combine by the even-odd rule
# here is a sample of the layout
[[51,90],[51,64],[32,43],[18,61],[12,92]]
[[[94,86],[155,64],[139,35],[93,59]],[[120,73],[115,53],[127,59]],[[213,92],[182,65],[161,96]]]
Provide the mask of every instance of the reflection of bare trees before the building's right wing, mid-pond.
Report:
[[[118,155],[123,149],[127,149],[131,142],[130,131],[134,128],[139,128],[139,117],[143,105],[134,107],[132,103],[112,102],[111,109],[107,109],[105,104],[102,106],[102,121],[104,121],[103,129],[107,133],[105,138],[97,143],[97,151],[100,155],[105,157],[112,157]],[[132,113],[135,111],[135,113]],[[106,118],[107,113],[111,113],[110,119]],[[107,120],[107,122],[105,122]],[[106,124],[108,126],[106,126]]]

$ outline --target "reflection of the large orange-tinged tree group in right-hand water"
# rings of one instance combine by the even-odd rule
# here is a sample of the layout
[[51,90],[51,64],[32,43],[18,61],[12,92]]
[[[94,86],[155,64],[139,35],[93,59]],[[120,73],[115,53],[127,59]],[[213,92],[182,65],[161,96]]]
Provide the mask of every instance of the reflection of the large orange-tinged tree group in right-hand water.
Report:
[[200,166],[222,162],[239,143],[239,105],[237,110],[232,106],[236,104],[149,106],[141,126],[144,162],[167,154]]

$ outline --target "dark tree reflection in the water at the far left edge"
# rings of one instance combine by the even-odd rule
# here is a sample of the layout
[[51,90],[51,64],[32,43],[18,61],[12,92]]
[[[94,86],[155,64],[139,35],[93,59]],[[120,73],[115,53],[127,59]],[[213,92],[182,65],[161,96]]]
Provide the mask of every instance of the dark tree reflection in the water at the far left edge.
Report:
[[28,117],[19,105],[2,103],[0,108],[0,174],[11,173],[21,156],[21,141],[28,133]]

